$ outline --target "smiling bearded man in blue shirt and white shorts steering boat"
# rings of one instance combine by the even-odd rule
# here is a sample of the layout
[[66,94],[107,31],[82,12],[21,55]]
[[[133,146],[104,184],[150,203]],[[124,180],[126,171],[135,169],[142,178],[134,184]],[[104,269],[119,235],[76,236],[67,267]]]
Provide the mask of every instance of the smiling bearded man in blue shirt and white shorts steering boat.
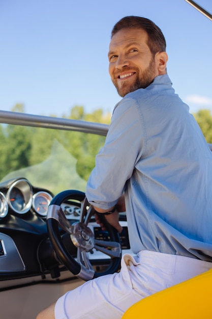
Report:
[[124,255],[120,273],[69,291],[39,319],[120,318],[140,299],[211,268],[212,155],[174,93],[165,48],[148,19],[115,24],[109,73],[123,99],[87,183],[88,201],[99,214],[109,212],[119,232],[126,205],[135,257]]

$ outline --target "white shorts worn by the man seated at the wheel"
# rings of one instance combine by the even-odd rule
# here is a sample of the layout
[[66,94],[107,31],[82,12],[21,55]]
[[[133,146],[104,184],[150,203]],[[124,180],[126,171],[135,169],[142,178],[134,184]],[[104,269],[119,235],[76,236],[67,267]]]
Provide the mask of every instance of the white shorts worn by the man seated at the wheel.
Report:
[[140,251],[122,257],[119,273],[85,282],[60,297],[55,319],[117,319],[137,301],[212,268],[194,258]]

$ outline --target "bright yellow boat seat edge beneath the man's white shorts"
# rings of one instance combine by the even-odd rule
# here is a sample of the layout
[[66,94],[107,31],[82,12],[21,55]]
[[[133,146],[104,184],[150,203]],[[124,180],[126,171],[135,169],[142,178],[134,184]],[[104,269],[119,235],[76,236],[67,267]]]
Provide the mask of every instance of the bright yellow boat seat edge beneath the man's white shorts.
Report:
[[209,319],[211,298],[212,269],[140,300],[122,319]]

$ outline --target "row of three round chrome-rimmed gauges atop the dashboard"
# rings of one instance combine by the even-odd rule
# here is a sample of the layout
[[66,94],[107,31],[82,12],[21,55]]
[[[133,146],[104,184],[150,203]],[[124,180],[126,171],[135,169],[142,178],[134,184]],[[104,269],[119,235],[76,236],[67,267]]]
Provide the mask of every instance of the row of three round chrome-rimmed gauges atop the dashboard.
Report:
[[33,187],[26,178],[10,179],[0,183],[0,218],[8,214],[25,215],[35,212],[45,218],[53,194]]

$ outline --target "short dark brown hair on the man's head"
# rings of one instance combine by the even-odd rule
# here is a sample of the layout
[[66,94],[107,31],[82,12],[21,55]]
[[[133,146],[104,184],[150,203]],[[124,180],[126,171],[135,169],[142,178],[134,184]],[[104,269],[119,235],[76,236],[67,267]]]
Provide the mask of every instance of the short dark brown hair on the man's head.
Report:
[[161,29],[151,20],[137,17],[128,16],[120,19],[113,27],[111,32],[111,38],[116,34],[116,32],[122,29],[143,29],[148,35],[147,44],[152,52],[153,56],[157,52],[166,51],[166,40]]

